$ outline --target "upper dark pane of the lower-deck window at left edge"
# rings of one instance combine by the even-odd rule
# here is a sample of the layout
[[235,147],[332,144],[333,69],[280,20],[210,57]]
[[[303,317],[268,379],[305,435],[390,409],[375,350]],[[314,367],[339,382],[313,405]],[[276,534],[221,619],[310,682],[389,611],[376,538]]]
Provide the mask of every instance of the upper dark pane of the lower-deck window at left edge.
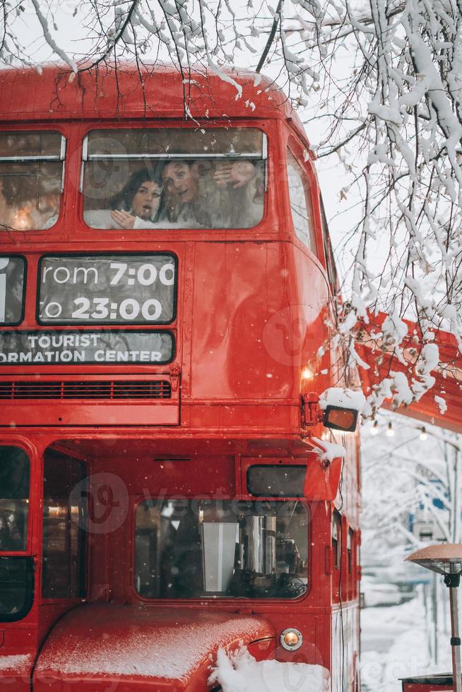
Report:
[[25,550],[29,514],[28,455],[0,446],[0,551]]

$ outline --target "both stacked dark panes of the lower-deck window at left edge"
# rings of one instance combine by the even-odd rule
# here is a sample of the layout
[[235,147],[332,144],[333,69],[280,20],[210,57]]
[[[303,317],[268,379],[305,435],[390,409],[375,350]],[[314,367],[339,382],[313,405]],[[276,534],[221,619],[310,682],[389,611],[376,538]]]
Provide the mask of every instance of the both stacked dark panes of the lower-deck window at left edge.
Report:
[[32,557],[8,556],[28,547],[29,487],[28,455],[0,446],[0,621],[18,620],[32,605]]

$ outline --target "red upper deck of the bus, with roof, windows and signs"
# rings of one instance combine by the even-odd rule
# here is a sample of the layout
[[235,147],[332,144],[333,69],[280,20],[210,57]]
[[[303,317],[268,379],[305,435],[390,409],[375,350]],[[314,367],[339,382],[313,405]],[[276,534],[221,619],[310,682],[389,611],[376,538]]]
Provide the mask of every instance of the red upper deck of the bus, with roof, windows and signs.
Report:
[[5,424],[40,424],[23,400],[43,394],[53,424],[300,438],[303,395],[340,370],[336,278],[283,96],[197,76],[184,119],[172,71],[32,77],[2,77],[24,118],[0,113]]

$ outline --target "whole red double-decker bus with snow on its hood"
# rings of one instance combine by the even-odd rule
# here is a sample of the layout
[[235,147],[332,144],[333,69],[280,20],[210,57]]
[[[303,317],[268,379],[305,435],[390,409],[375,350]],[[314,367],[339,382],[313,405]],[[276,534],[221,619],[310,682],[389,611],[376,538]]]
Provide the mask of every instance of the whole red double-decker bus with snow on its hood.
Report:
[[218,690],[239,643],[357,689],[357,444],[321,422],[348,383],[285,95],[1,85],[0,690]]

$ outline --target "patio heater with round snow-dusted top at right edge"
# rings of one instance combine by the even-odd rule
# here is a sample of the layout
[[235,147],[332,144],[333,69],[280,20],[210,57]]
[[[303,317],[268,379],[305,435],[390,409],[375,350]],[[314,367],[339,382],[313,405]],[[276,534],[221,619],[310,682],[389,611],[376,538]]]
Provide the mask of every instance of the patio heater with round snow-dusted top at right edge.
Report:
[[454,692],[462,692],[461,679],[461,638],[458,632],[457,589],[462,574],[462,544],[446,543],[429,545],[416,550],[406,561],[430,569],[444,576],[444,583],[449,587],[449,604],[451,607],[451,652],[452,684]]

